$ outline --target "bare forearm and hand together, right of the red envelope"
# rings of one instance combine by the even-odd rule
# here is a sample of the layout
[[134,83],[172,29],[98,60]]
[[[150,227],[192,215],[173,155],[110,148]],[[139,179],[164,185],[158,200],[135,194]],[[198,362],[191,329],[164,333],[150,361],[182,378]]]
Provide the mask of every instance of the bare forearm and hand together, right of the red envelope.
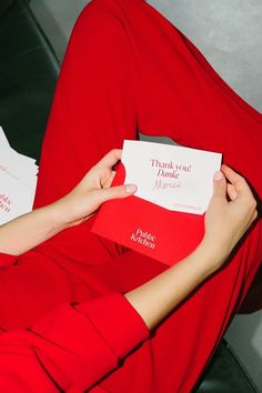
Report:
[[213,274],[258,215],[245,180],[226,165],[214,177],[199,246],[179,263],[125,294],[149,329],[157,326],[200,283]]

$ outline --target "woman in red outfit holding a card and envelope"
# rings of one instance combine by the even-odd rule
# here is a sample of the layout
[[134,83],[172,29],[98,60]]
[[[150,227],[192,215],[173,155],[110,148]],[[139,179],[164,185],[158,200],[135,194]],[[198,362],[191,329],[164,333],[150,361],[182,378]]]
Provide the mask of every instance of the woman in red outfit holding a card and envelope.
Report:
[[[130,194],[107,188],[119,150],[95,163],[138,132],[221,151],[241,173],[222,168],[203,241],[169,269],[90,232],[100,203]],[[1,228],[1,390],[190,392],[261,264],[243,180],[260,200],[261,142],[262,114],[157,10],[90,1],[58,82],[36,211]]]

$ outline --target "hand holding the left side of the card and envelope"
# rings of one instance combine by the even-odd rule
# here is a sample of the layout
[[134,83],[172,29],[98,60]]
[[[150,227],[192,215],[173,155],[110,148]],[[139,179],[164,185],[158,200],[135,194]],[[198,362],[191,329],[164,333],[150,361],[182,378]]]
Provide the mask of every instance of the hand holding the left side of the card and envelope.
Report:
[[87,221],[103,202],[127,198],[137,191],[134,184],[110,188],[115,174],[112,168],[121,159],[121,153],[120,149],[111,150],[70,193],[54,202],[66,228]]

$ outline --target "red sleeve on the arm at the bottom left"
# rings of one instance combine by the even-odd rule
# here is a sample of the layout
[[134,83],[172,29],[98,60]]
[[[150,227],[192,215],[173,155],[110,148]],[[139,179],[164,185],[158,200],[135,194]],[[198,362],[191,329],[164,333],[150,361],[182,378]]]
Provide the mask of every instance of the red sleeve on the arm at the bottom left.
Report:
[[148,336],[122,294],[63,304],[32,329],[0,336],[1,391],[83,392]]

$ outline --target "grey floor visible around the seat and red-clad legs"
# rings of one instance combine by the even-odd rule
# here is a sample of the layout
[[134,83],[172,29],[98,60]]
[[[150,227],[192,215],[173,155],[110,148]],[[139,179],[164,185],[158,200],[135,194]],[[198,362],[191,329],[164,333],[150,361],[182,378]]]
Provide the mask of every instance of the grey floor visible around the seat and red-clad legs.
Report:
[[[31,1],[60,59],[72,26],[87,2]],[[148,2],[182,30],[220,75],[262,112],[262,0]],[[235,316],[225,336],[262,392],[262,312]]]

